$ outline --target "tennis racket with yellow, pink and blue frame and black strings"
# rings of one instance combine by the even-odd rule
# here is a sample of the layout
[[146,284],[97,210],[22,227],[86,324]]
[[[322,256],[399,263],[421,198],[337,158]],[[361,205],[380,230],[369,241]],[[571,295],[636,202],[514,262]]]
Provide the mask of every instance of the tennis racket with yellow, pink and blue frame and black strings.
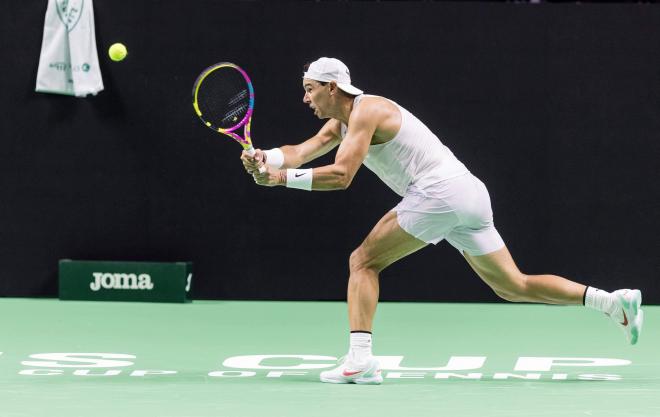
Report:
[[[241,67],[220,62],[202,71],[193,85],[193,107],[206,126],[234,139],[254,156],[250,138],[254,89]],[[236,133],[241,127],[243,137]],[[266,167],[259,168],[259,172],[265,171]]]

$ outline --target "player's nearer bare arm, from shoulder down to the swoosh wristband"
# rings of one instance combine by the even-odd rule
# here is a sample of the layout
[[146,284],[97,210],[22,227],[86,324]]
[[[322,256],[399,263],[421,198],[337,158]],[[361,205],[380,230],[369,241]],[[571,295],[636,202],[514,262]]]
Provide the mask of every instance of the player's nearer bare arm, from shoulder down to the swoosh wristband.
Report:
[[314,168],[312,190],[345,190],[351,185],[369,152],[377,124],[377,110],[372,107],[361,106],[351,115],[349,129],[337,149],[335,163]]

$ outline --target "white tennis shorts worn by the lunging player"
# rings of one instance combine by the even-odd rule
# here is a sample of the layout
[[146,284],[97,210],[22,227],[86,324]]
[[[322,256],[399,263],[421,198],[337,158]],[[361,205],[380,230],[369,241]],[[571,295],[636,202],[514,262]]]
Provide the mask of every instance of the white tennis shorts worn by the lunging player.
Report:
[[470,173],[423,190],[410,186],[393,210],[399,226],[426,243],[446,239],[461,254],[474,256],[504,247],[493,224],[488,190]]

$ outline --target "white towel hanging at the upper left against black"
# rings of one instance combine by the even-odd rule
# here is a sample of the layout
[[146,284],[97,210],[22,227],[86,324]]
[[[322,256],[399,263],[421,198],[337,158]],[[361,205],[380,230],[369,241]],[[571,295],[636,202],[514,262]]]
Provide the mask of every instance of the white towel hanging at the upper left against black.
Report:
[[92,0],[48,0],[36,91],[85,97],[102,90]]

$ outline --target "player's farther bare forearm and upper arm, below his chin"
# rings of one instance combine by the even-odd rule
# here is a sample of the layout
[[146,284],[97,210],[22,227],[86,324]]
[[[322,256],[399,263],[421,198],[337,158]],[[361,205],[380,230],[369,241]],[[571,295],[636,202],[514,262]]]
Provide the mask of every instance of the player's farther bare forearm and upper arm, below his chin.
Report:
[[284,163],[281,168],[298,168],[309,161],[325,155],[334,149],[341,141],[341,122],[328,120],[319,132],[298,145],[281,146]]

